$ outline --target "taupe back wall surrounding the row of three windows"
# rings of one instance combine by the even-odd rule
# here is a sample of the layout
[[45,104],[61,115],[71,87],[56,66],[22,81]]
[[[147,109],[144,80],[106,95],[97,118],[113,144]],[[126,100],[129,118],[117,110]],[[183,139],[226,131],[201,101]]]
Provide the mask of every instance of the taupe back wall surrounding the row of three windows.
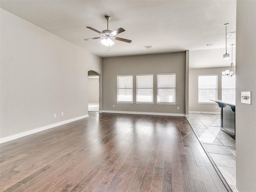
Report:
[[[103,59],[103,110],[185,114],[186,52]],[[156,105],[156,74],[176,73],[177,105]],[[134,104],[117,104],[117,75],[133,75]],[[136,104],[136,74],[154,74],[154,105]],[[113,108],[113,105],[115,107]],[[177,110],[177,107],[180,110]]]

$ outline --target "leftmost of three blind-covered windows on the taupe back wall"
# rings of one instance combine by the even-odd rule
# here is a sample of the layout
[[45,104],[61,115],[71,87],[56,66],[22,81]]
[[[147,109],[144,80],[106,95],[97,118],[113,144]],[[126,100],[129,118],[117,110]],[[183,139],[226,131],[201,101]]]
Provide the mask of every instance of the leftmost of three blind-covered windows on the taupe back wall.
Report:
[[117,102],[133,102],[132,75],[117,76]]

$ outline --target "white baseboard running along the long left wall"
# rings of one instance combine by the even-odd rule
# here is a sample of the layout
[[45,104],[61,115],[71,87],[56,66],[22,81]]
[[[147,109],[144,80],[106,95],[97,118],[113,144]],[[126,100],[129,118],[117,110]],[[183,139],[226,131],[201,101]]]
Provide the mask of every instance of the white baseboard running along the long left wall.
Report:
[[28,131],[25,131],[25,132],[21,132],[21,133],[17,133],[17,134],[14,134],[14,135],[7,136],[7,137],[3,137],[3,138],[0,138],[0,143],[8,142],[8,141],[18,139],[18,138],[21,138],[21,137],[24,137],[24,136],[27,136],[27,135],[30,135],[30,134],[34,134],[34,133],[37,133],[37,132],[40,132],[40,131],[44,131],[44,130],[47,130],[47,129],[50,129],[50,128],[54,128],[54,127],[57,127],[57,126],[60,126],[60,125],[63,125],[63,124],[67,124],[67,123],[70,123],[70,122],[73,122],[73,121],[76,121],[76,120],[86,118],[88,116],[89,115],[87,114],[87,115],[83,115],[83,116],[80,116],[80,117],[75,117],[75,118],[72,118],[72,119],[61,121],[61,122],[58,122],[58,123],[46,125],[46,126],[43,126],[43,127],[40,127],[40,128],[35,128],[35,129],[28,130]]

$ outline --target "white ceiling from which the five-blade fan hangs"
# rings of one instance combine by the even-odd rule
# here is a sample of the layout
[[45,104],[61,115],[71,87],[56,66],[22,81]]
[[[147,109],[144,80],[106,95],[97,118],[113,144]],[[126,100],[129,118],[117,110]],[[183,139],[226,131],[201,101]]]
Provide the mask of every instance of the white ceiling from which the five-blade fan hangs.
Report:
[[[103,58],[223,48],[223,24],[230,23],[227,33],[236,31],[235,0],[1,0],[0,6]],[[108,50],[99,39],[84,41],[100,36],[86,26],[107,28],[105,15],[109,29],[124,28],[117,36],[130,44],[114,40]]]

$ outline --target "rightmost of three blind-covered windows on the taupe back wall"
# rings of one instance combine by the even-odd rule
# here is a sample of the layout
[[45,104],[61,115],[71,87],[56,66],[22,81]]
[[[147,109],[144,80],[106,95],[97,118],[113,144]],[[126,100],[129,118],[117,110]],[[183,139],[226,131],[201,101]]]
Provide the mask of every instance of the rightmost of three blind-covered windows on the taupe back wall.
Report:
[[176,74],[157,74],[157,102],[176,102]]

